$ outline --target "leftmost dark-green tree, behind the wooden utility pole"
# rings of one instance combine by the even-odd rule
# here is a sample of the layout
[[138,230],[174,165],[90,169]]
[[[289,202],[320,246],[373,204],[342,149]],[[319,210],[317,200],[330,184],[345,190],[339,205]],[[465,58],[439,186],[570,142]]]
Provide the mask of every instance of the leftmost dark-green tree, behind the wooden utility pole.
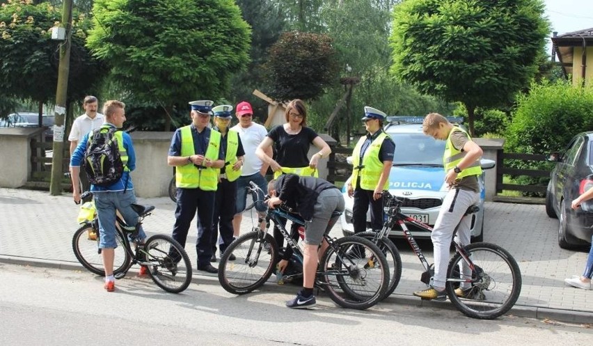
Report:
[[[58,45],[49,29],[61,21],[61,10],[50,3],[11,1],[0,6],[0,80],[3,93],[45,103],[55,99]],[[78,15],[72,22],[72,63],[68,99],[81,98],[104,72],[84,47],[90,21]]]

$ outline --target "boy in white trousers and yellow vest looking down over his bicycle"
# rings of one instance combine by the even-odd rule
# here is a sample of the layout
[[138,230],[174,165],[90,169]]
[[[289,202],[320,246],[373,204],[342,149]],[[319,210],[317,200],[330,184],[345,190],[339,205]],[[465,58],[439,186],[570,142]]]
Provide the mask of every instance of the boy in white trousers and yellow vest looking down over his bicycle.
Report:
[[[461,244],[470,244],[471,218],[463,218],[471,205],[480,199],[477,176],[482,174],[480,157],[482,148],[478,146],[463,129],[453,126],[441,114],[429,113],[422,123],[422,131],[434,137],[447,141],[443,153],[445,167],[445,182],[449,185],[449,192],[432,230],[432,244],[434,247],[434,280],[431,288],[414,292],[414,295],[424,299],[447,299],[445,280],[449,263],[449,247],[452,235],[459,221],[457,237]],[[463,218],[463,219],[462,219]],[[464,272],[468,273],[464,268]],[[471,275],[468,273],[468,275]],[[459,297],[464,295],[464,284],[455,293]]]

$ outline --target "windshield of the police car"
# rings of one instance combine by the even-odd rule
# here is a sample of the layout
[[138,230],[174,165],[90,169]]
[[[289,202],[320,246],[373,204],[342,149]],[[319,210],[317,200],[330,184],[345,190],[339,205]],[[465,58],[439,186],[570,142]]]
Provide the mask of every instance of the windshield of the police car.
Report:
[[395,142],[394,166],[443,166],[445,141],[437,141],[425,134],[390,133],[389,136]]

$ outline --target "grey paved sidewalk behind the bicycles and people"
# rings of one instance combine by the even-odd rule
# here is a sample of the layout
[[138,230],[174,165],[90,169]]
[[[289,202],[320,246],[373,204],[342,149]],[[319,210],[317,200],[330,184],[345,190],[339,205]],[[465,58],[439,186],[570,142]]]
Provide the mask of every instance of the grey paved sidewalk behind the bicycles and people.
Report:
[[[166,197],[139,198],[139,203],[156,206],[152,215],[145,219],[148,235],[170,235],[175,221],[175,203]],[[74,205],[68,194],[50,196],[47,191],[0,188],[0,262],[83,269],[72,252],[72,234],[79,228],[78,210],[79,206]],[[186,246],[194,265],[195,225],[194,220]],[[246,212],[242,233],[251,227],[251,217]],[[587,253],[558,247],[558,221],[546,216],[543,205],[487,203],[484,229],[484,241],[503,246],[521,267],[523,288],[510,315],[577,323],[593,321],[593,290],[564,285],[564,278],[581,274]],[[332,235],[341,236],[339,223]],[[408,244],[397,242],[396,245],[402,255],[402,280],[395,293],[381,304],[452,308],[448,303],[421,301],[412,296],[411,292],[423,288],[419,281],[422,268]],[[420,246],[432,262],[431,246],[425,242]],[[194,281],[219,284],[216,276],[202,272],[194,272]],[[287,289],[294,291],[290,285],[278,286],[278,290]]]

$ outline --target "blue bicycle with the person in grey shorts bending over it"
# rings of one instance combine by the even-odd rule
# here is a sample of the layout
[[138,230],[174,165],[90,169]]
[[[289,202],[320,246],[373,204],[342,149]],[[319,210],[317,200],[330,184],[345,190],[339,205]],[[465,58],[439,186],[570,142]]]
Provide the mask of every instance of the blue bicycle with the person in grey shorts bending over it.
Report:
[[[261,191],[250,182],[250,191]],[[257,203],[257,201],[256,201]],[[335,223],[340,213],[330,222]],[[268,209],[266,217],[274,221],[294,253],[303,258],[300,247],[290,237],[280,219],[304,225],[305,221],[285,206]],[[230,244],[219,264],[221,286],[232,294],[246,294],[263,285],[280,260],[278,245],[266,229],[259,227],[260,217],[253,231]],[[388,265],[377,245],[361,237],[331,238],[324,235],[329,246],[317,267],[315,286],[324,290],[336,304],[344,308],[364,310],[377,304],[384,297],[389,282]],[[229,260],[235,255],[235,260]]]

